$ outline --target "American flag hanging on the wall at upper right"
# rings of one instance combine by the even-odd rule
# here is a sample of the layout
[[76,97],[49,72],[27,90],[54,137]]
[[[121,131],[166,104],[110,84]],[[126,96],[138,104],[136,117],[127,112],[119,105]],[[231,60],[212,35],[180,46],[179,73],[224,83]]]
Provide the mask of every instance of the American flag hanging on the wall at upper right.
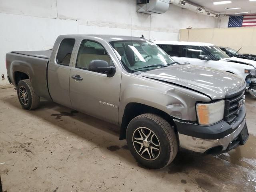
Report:
[[256,15],[230,16],[228,27],[256,27]]

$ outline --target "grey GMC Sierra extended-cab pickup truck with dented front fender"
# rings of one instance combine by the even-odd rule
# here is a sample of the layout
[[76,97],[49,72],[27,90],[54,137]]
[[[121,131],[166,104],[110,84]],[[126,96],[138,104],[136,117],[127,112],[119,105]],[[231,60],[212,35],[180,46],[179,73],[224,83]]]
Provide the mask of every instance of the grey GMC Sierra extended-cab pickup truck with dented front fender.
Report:
[[22,108],[40,97],[120,126],[140,164],[162,168],[178,148],[217,154],[246,143],[246,83],[178,64],[144,38],[62,35],[52,50],[6,54]]

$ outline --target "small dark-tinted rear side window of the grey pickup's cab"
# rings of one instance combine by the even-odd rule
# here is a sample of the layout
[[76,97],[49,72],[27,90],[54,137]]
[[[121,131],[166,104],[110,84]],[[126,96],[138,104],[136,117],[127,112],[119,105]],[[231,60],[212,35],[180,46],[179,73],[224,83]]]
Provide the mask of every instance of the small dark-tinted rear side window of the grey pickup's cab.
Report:
[[64,39],[60,43],[60,48],[57,54],[57,63],[60,65],[69,66],[71,54],[74,48],[74,39]]

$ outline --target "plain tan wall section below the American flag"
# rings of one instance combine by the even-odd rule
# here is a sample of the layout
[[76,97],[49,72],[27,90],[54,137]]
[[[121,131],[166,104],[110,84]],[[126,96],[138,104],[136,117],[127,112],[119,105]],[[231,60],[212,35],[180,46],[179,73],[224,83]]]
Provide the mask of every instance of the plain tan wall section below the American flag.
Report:
[[180,41],[207,42],[256,54],[256,27],[181,29]]

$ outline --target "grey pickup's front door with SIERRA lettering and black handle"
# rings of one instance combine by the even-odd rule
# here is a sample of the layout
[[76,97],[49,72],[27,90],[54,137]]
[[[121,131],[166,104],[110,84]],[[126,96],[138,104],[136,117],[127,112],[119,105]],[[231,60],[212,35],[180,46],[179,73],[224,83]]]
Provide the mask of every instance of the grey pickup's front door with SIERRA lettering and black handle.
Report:
[[[104,40],[88,37],[80,39],[76,59],[70,72],[70,99],[74,109],[91,116],[118,124],[118,105],[121,73],[113,60],[114,51]],[[92,60],[104,60],[116,67],[116,73],[107,77],[104,73],[90,71]]]

